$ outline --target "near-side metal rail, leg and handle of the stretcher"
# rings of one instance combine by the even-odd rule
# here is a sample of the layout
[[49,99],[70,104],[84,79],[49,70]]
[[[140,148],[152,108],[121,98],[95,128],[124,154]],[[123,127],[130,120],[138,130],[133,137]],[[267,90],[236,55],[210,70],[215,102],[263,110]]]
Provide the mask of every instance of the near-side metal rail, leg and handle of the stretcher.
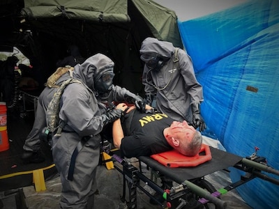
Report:
[[[112,157],[117,157],[117,155],[112,155]],[[200,208],[208,202],[214,203],[218,208],[226,207],[227,203],[218,199],[218,195],[211,195],[211,192],[205,191],[204,188],[199,187],[190,181],[186,180],[182,185],[179,185],[179,187],[172,187],[172,189],[164,190],[156,183],[153,183],[152,180],[144,176],[144,174],[133,165],[128,164],[124,160],[117,161],[122,164],[122,169],[117,166],[114,167],[123,174],[123,195],[121,196],[121,201],[126,202],[129,209],[137,208],[137,188],[141,189],[142,192],[156,201],[162,206],[162,208],[165,207],[164,203],[160,203],[160,201],[154,199],[154,197],[140,185],[141,180],[158,192],[158,194],[164,196],[167,204],[172,208]],[[129,189],[128,201],[126,200],[126,182]],[[198,201],[201,197],[204,197],[203,201]]]

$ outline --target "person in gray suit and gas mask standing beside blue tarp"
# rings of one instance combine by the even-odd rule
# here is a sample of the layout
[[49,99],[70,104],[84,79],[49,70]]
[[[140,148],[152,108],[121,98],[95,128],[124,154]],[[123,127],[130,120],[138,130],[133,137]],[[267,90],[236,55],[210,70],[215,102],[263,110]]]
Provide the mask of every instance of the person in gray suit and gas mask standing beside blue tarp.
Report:
[[[172,42],[146,38],[140,48],[146,103],[176,121],[188,121],[199,131],[206,125],[200,113],[204,100],[190,56]],[[156,102],[154,102],[156,101]]]

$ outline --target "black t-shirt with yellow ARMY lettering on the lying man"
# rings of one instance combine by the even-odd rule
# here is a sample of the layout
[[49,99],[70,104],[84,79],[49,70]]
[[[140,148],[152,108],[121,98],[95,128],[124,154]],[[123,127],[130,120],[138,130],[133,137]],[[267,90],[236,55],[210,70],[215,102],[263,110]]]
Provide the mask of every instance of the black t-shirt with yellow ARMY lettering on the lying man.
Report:
[[139,157],[171,150],[163,130],[173,121],[165,114],[142,114],[136,109],[130,111],[123,122],[123,130],[128,127],[129,136],[121,141],[121,154],[126,157]]

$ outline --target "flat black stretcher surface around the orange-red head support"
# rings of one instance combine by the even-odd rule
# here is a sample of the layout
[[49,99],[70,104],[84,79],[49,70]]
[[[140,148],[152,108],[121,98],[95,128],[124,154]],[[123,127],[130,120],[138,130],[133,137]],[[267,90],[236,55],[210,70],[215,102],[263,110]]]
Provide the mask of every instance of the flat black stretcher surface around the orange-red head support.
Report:
[[210,147],[212,160],[199,164],[197,167],[183,167],[183,168],[169,168],[160,164],[151,157],[138,157],[146,165],[156,171],[160,171],[168,178],[174,180],[176,183],[183,183],[185,180],[194,178],[201,178],[210,173],[233,167],[240,162],[243,157],[239,157],[232,153],[227,153],[222,150]]

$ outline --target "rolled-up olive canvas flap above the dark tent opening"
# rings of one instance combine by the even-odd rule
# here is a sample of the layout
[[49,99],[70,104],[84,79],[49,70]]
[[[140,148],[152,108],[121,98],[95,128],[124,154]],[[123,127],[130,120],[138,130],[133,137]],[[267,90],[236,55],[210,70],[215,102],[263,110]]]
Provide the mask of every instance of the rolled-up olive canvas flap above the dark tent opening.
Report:
[[22,15],[30,19],[66,17],[93,22],[129,22],[127,1],[31,1],[25,0]]

